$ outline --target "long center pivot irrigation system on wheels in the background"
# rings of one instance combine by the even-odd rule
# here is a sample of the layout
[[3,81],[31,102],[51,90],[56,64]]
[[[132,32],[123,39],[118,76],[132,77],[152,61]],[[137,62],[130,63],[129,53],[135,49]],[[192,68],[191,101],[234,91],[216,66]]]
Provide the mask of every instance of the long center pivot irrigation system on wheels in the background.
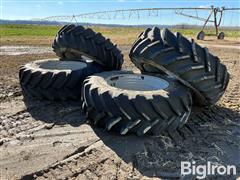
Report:
[[[43,21],[76,21],[78,23],[82,19],[130,19],[142,17],[142,14],[148,16],[160,16],[162,11],[173,11],[174,14],[179,16],[184,16],[192,18],[198,21],[203,22],[201,31],[197,34],[197,39],[203,40],[205,37],[204,29],[206,29],[207,24],[212,23],[215,27],[216,37],[218,39],[224,39],[224,32],[219,33],[219,27],[222,22],[222,18],[225,11],[237,11],[239,13],[240,8],[225,8],[225,7],[191,7],[191,8],[142,8],[142,9],[122,9],[122,10],[113,10],[113,11],[98,11],[92,13],[83,13],[79,15],[66,15],[66,16],[50,16],[43,18]],[[192,11],[191,13],[187,11]],[[199,12],[206,12],[207,16],[203,17]],[[239,13],[240,15],[240,13]]]

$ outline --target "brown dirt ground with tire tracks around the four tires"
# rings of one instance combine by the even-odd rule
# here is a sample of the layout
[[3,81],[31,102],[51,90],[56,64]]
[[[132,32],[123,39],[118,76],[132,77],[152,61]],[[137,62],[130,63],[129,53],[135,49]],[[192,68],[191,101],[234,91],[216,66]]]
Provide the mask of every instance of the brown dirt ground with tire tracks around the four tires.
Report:
[[[235,177],[209,179],[239,177],[240,42],[200,43],[228,67],[227,91],[217,105],[193,113],[181,130],[158,137],[118,136],[91,127],[80,102],[24,100],[18,67],[55,55],[47,43],[39,50],[36,44],[21,50],[11,49],[15,41],[1,44],[0,179],[195,179],[180,176],[180,162],[193,160],[237,167]],[[125,55],[123,69],[136,70],[127,57],[130,45],[120,49]]]

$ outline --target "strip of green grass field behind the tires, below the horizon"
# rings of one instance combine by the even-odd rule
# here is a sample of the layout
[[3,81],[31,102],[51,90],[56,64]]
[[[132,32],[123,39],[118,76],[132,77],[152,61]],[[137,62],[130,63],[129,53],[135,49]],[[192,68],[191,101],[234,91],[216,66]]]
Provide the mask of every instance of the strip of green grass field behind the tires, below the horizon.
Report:
[[[60,26],[49,25],[0,25],[0,37],[9,36],[55,36]],[[91,27],[95,31],[101,32],[106,36],[129,36],[138,35],[143,28],[124,28],[124,27]],[[173,29],[186,36],[196,36],[199,29]],[[240,37],[238,30],[224,30],[227,37]],[[206,34],[214,35],[214,29],[206,30]]]

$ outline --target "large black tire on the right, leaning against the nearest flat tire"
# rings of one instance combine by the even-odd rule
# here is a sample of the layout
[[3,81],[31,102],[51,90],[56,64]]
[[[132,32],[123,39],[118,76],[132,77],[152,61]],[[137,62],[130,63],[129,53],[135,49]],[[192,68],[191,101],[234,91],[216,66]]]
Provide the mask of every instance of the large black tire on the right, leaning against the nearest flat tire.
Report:
[[168,29],[145,30],[130,51],[132,62],[144,73],[166,73],[193,91],[194,104],[210,106],[225,92],[229,73],[219,58]]

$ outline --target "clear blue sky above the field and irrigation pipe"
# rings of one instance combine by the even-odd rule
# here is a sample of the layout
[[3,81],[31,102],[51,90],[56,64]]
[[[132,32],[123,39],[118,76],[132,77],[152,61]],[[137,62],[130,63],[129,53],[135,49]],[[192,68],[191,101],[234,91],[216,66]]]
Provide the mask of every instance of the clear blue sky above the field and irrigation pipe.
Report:
[[[48,16],[77,15],[82,13],[156,7],[216,7],[239,8],[240,0],[0,0],[1,19],[31,20]],[[206,18],[206,11],[184,11],[184,13]],[[126,15],[128,16],[128,14]],[[100,20],[96,18],[77,19],[79,22],[104,24],[192,24],[201,25],[203,22],[176,15],[174,11],[160,11],[156,16],[141,13],[140,18],[113,18]],[[240,26],[240,11],[228,11],[224,14],[222,25]]]

